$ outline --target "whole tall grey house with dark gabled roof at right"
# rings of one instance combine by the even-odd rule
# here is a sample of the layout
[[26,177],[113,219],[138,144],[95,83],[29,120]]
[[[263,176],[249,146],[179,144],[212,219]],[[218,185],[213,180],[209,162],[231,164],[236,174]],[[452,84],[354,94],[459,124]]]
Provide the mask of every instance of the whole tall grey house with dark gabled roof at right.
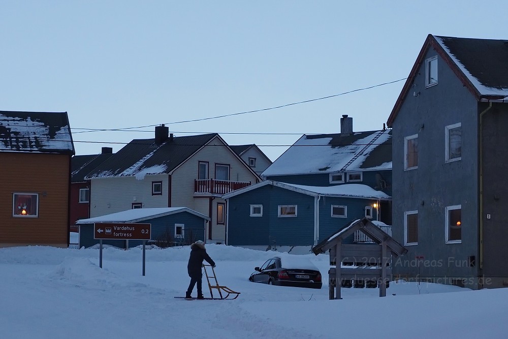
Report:
[[505,40],[427,37],[388,119],[395,274],[508,286],[507,96]]

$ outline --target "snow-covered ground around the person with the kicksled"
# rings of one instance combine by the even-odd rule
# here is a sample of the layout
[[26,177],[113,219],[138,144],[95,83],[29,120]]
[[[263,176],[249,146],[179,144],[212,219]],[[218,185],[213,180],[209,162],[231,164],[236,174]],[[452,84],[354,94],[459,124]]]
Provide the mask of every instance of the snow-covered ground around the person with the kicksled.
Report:
[[141,249],[105,249],[102,269],[97,249],[0,249],[0,338],[506,337],[508,289],[392,282],[384,298],[342,289],[328,300],[326,255],[306,255],[325,278],[315,290],[249,282],[272,251],[206,248],[236,300],[173,298],[189,282],[188,246],[147,249],[145,276]]

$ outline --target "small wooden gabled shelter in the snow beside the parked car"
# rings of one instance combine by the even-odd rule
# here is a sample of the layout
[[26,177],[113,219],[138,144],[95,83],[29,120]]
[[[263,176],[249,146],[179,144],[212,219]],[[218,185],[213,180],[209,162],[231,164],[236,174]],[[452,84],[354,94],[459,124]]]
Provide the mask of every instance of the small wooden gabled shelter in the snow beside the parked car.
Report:
[[[356,231],[364,233],[373,243],[342,243]],[[407,249],[388,233],[363,218],[351,222],[312,248],[315,255],[327,251],[330,253],[330,266],[337,266],[337,262],[339,263],[338,267],[331,267],[328,271],[331,300],[341,299],[340,288],[343,280],[375,280],[378,282],[379,296],[386,296],[387,283],[392,276],[392,258],[404,255]],[[347,264],[351,267],[347,267]]]

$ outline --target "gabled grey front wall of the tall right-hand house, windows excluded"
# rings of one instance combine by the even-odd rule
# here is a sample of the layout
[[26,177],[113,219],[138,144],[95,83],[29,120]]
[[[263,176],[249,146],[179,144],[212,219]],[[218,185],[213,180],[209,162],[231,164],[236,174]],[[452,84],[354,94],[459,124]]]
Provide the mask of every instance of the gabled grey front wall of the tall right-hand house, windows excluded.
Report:
[[[430,49],[425,59],[436,55]],[[393,237],[404,244],[404,211],[418,210],[418,244],[394,264],[394,273],[435,282],[474,277],[478,265],[477,101],[438,57],[438,84],[425,88],[425,63],[416,73],[393,124]],[[417,96],[414,96],[414,93]],[[445,162],[445,127],[461,122],[462,159]],[[404,170],[404,137],[418,134],[418,168]],[[462,242],[445,243],[445,208],[461,205]],[[423,262],[416,263],[416,256]],[[420,266],[420,267],[419,267]],[[474,288],[472,284],[466,284]]]

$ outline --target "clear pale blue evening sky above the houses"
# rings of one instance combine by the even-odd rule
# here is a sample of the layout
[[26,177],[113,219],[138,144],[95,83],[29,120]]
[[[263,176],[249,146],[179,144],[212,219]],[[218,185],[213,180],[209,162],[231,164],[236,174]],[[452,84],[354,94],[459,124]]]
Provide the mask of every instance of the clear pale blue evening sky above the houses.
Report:
[[3,2],[0,110],[68,112],[77,155],[116,152],[166,124],[175,136],[255,143],[274,161],[302,134],[339,133],[342,114],[355,132],[382,129],[428,34],[508,39],[505,9],[500,0]]

